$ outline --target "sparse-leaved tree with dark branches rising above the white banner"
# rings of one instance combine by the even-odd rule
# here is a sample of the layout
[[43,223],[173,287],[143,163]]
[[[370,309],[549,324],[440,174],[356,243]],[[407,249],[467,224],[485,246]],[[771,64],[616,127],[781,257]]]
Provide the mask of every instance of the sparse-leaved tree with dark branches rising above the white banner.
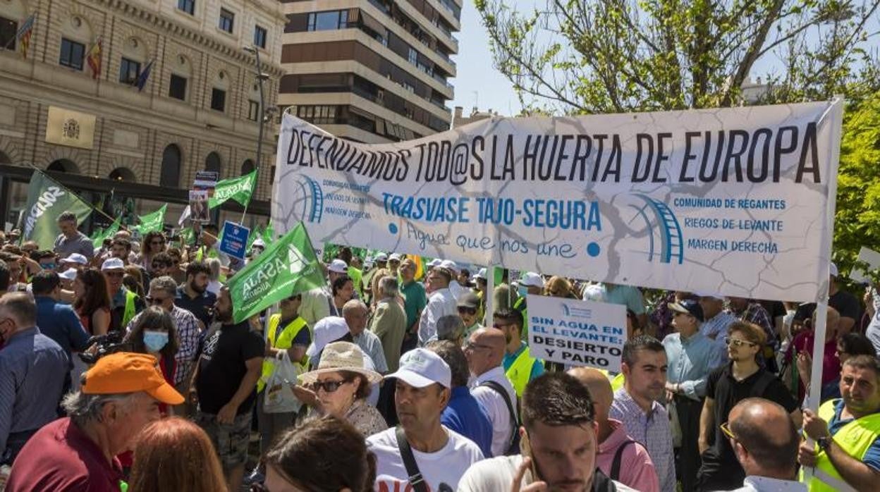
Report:
[[[830,99],[874,77],[880,0],[475,0],[495,66],[524,106],[566,114],[736,106],[756,63],[761,102]],[[869,73],[864,73],[869,72]]]

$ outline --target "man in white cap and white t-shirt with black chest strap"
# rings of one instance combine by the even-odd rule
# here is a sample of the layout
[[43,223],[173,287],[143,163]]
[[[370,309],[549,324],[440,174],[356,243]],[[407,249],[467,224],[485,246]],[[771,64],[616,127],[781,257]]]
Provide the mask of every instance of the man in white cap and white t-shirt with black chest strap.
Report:
[[377,490],[456,490],[466,470],[483,459],[472,440],[440,423],[450,400],[452,374],[440,356],[413,349],[400,357],[394,378],[394,403],[400,427],[367,437],[376,455]]

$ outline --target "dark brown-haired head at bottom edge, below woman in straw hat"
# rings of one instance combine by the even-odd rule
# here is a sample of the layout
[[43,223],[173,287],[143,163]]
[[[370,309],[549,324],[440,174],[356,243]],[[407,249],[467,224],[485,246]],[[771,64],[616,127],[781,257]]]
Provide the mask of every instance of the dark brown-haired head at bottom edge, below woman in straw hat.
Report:
[[368,492],[376,456],[363,435],[333,415],[289,430],[266,455],[265,485],[253,492]]

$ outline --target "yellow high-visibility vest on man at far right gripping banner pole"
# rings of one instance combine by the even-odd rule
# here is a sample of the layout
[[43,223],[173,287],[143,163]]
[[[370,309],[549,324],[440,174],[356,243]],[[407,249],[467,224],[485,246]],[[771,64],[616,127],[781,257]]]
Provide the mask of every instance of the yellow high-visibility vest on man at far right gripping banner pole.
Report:
[[[834,418],[834,406],[838,401],[840,400],[825,401],[819,407],[819,417],[825,422],[831,422],[831,419]],[[871,414],[847,423],[837,431],[837,434],[834,434],[832,439],[849,456],[863,461],[865,453],[868,452],[868,448],[878,436],[880,436],[880,414]],[[816,467],[813,469],[813,478],[807,484],[810,492],[854,490],[834,468],[828,455],[819,450],[818,444],[816,452]],[[801,469],[801,481],[804,481],[803,468]]]

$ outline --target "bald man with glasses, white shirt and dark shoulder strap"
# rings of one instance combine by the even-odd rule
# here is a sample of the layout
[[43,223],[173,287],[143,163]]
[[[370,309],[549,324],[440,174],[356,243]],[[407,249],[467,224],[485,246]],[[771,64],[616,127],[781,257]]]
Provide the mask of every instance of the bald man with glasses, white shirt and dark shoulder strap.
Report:
[[465,341],[467,367],[473,375],[471,394],[492,422],[493,456],[519,452],[517,393],[502,366],[506,346],[504,334],[495,328],[480,328]]

